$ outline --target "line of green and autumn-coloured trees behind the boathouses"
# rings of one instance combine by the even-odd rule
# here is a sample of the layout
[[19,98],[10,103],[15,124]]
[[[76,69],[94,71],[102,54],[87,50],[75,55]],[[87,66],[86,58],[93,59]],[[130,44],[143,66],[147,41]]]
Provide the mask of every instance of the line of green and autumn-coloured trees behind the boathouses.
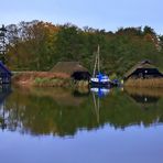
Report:
[[163,70],[163,35],[150,26],[120,28],[116,32],[42,21],[7,26],[7,65],[12,70],[50,70],[57,62],[80,62],[90,73],[97,45],[107,74],[123,75],[142,59]]

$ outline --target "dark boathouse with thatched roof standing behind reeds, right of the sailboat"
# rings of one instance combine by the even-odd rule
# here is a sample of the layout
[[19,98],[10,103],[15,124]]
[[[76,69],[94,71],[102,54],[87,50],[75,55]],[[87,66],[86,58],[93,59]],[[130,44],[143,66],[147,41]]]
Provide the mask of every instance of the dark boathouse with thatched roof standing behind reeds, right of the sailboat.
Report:
[[133,66],[124,75],[124,79],[137,79],[137,78],[161,78],[163,74],[152,65],[150,61],[143,61]]

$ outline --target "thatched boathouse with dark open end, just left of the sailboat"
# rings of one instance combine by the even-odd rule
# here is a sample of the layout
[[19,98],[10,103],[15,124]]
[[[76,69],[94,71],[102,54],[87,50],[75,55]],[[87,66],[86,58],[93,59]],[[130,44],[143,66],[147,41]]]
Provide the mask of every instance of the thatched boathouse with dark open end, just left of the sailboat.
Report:
[[58,62],[51,72],[68,75],[76,80],[90,78],[88,69],[78,62]]

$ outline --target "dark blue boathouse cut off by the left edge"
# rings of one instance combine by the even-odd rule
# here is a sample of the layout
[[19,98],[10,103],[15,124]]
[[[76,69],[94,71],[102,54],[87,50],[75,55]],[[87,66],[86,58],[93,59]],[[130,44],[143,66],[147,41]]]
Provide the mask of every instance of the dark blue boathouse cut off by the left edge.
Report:
[[0,85],[11,83],[11,72],[0,61]]

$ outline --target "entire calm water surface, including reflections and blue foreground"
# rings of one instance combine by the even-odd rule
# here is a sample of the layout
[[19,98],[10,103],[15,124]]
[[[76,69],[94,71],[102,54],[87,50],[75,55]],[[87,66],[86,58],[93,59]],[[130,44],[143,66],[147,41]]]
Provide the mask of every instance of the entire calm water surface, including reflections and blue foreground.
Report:
[[0,89],[2,163],[162,163],[163,90]]

